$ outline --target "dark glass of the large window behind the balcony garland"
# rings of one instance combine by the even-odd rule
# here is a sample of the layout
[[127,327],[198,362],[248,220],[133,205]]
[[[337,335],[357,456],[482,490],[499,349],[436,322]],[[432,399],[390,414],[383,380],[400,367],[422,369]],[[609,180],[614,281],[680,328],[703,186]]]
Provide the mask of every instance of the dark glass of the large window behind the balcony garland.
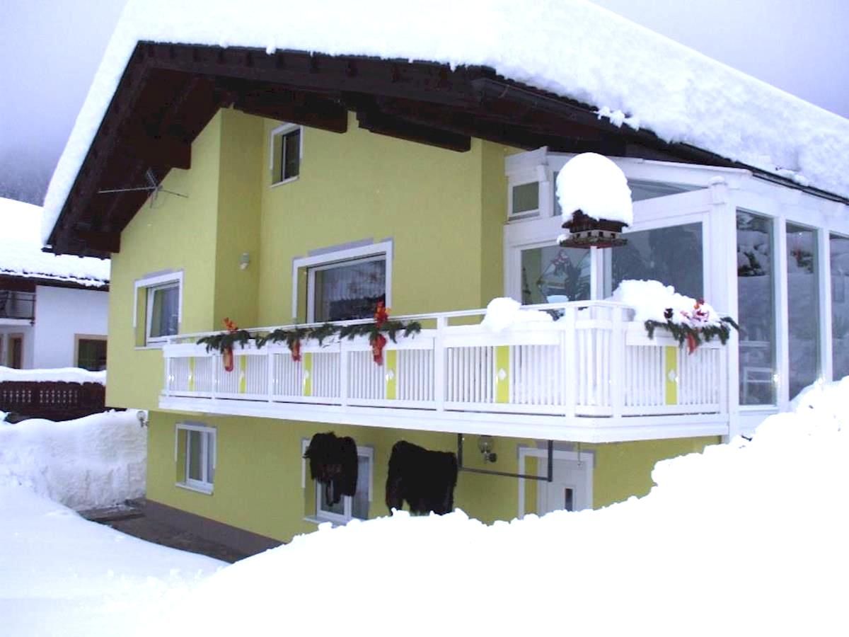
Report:
[[314,281],[315,321],[368,318],[386,300],[386,261],[349,262],[317,269]]

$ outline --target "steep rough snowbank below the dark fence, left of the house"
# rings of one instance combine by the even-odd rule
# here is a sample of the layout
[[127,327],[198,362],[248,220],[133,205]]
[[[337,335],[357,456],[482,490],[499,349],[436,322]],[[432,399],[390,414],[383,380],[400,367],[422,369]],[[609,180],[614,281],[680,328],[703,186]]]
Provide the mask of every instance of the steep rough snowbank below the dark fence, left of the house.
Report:
[[146,431],[137,412],[0,420],[0,483],[23,484],[72,509],[114,505],[144,493]]

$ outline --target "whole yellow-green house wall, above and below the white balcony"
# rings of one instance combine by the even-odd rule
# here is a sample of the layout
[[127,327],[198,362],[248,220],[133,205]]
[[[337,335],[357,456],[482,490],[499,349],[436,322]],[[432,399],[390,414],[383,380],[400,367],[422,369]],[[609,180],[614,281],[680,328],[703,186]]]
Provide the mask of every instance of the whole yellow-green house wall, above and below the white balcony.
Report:
[[[374,449],[369,516],[386,513],[384,484],[396,441],[453,451],[456,436],[161,412],[162,354],[138,347],[143,315],[140,308],[133,327],[134,281],[183,271],[181,333],[219,329],[225,317],[243,327],[289,324],[293,258],[354,241],[391,239],[393,314],[484,307],[503,295],[504,158],[515,149],[478,139],[465,153],[436,149],[366,132],[351,117],[344,134],[305,128],[299,178],[272,186],[269,144],[277,125],[220,111],[195,140],[191,169],[172,170],[165,180],[166,189],[188,199],[160,194],[122,233],[121,252],[112,261],[107,403],[151,410],[149,499],[285,541],[315,528],[305,520],[314,513],[312,483],[301,482],[301,441],[312,434],[332,430]],[[244,253],[250,265],[242,269]],[[295,318],[305,318],[303,308],[300,302]],[[175,425],[182,421],[216,428],[211,494],[177,486],[184,469],[175,459]],[[593,505],[647,493],[656,460],[714,442],[583,445],[595,465]],[[520,445],[536,442],[499,437],[496,445],[498,463],[492,468],[514,472]],[[481,466],[474,451],[465,461]],[[536,471],[533,463],[526,469]],[[535,489],[526,481],[527,510],[534,510]],[[484,521],[512,519],[518,483],[462,472],[455,505]]]

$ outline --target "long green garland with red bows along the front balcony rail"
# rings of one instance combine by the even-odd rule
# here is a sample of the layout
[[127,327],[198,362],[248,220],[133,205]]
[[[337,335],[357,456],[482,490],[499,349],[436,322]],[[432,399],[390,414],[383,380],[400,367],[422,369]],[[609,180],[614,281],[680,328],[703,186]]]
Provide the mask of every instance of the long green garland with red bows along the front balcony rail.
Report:
[[[256,343],[256,348],[261,349],[267,343],[285,343],[292,353],[292,360],[301,360],[301,341],[304,339],[315,339],[319,345],[329,339],[331,336],[338,336],[340,339],[346,338],[349,341],[357,336],[368,336],[368,342],[372,347],[372,356],[376,364],[383,364],[383,348],[386,345],[386,336],[395,343],[399,334],[410,336],[419,334],[422,326],[418,321],[394,321],[390,320],[389,312],[379,302],[377,309],[374,312],[374,323],[363,323],[354,325],[334,325],[325,323],[316,327],[295,327],[290,330],[278,328],[269,332],[267,335],[251,336],[247,330],[239,330],[228,318],[224,319],[226,332],[204,336],[197,341],[198,345],[205,345],[206,351],[211,352],[216,350],[224,356],[228,356],[228,352],[233,352],[233,346],[237,343],[245,346],[248,341],[253,340]],[[384,335],[385,334],[385,335]],[[232,355],[232,353],[231,353]]]

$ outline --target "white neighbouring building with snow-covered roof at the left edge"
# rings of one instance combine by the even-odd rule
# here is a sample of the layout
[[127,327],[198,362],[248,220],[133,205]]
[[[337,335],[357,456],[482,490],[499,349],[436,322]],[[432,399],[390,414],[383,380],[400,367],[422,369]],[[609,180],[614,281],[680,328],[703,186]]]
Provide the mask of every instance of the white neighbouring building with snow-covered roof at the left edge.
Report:
[[106,369],[109,261],[42,252],[41,224],[0,199],[0,366]]

